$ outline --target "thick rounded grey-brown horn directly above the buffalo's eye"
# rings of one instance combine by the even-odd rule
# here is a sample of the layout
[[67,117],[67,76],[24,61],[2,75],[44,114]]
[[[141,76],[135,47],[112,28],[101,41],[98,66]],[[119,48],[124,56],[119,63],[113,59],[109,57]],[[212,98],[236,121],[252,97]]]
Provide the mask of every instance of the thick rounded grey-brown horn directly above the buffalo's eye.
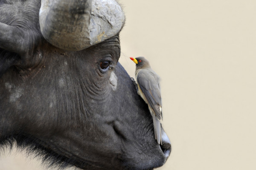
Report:
[[113,37],[124,22],[115,0],[41,0],[41,32],[64,50],[79,51]]

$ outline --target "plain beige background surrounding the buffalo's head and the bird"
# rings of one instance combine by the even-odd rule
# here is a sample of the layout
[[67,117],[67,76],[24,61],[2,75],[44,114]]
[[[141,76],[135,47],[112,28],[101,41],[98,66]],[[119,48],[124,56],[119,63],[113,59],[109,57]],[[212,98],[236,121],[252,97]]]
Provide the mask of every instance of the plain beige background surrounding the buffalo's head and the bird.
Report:
[[[172,153],[159,170],[255,170],[256,1],[119,0],[120,62],[145,56],[162,78]],[[40,170],[2,156],[0,170]],[[19,168],[18,168],[19,167]]]

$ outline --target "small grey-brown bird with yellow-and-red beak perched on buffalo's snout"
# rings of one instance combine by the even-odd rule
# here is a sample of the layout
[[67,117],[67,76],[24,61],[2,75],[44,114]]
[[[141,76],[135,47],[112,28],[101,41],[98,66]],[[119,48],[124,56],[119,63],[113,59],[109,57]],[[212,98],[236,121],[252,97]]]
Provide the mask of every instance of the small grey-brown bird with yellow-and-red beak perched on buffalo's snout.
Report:
[[161,120],[162,99],[160,92],[160,77],[152,70],[149,61],[145,57],[130,57],[136,63],[135,77],[137,84],[137,94],[148,104],[148,109],[153,118],[154,135],[158,144],[162,144]]

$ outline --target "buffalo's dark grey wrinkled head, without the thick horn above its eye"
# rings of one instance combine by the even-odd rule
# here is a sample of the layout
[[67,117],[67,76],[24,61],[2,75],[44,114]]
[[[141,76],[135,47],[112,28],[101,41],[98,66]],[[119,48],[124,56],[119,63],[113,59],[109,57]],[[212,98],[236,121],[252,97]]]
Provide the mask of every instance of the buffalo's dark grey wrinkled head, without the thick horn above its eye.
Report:
[[119,32],[81,51],[60,49],[41,34],[40,0],[7,1],[0,0],[0,146],[16,141],[81,169],[162,166],[171,145],[163,129],[157,144],[148,106],[118,62]]

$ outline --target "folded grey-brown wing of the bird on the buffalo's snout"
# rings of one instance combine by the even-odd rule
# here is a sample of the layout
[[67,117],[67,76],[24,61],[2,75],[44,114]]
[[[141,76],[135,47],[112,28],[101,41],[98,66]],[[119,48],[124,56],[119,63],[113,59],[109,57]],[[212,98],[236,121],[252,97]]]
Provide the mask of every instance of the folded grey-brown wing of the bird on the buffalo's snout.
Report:
[[137,74],[137,83],[158,119],[162,118],[162,101],[159,77],[152,69],[142,69]]

